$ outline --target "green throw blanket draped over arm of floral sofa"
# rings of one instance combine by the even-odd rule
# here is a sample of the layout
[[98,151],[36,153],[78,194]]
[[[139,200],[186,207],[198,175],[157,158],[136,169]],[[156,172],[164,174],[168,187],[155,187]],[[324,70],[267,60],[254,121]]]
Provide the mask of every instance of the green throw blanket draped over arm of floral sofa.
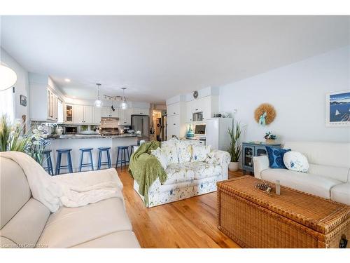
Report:
[[151,155],[151,151],[160,147],[160,142],[155,140],[141,144],[139,149],[130,157],[129,173],[139,184],[139,194],[144,196],[144,202],[148,205],[148,189],[159,178],[160,182],[167,180],[167,173],[160,165],[158,159]]

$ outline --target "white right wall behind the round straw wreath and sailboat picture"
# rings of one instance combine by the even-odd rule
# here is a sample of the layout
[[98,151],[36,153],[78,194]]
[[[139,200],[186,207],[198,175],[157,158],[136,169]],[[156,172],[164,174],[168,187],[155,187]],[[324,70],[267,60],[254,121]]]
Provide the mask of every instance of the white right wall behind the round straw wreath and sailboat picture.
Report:
[[[220,111],[246,125],[243,140],[263,141],[267,130],[290,140],[350,142],[350,128],[325,127],[325,93],[350,89],[350,46],[220,87]],[[276,119],[262,127],[254,111],[268,102]]]

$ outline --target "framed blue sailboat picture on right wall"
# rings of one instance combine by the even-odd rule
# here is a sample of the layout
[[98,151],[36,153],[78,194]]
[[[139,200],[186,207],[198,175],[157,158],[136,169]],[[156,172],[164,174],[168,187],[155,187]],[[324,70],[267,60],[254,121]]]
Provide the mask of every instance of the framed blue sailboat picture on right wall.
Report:
[[350,90],[325,95],[325,126],[350,127]]

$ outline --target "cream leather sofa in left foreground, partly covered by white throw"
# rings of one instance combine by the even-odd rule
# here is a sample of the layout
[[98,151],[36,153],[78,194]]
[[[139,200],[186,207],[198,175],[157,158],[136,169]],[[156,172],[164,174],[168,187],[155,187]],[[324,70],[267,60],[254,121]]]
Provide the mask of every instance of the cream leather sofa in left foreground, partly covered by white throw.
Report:
[[0,182],[1,248],[139,248],[120,198],[50,213],[31,196],[22,168],[6,158]]

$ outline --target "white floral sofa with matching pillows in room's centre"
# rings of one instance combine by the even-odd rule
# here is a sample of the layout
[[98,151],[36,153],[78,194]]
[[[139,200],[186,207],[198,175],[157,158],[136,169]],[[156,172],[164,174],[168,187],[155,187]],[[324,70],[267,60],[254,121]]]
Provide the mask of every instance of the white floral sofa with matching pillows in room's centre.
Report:
[[[216,182],[228,179],[230,154],[196,141],[172,139],[152,154],[165,169],[167,180],[157,179],[148,189],[148,207],[216,191]],[[134,189],[138,192],[136,181]]]

